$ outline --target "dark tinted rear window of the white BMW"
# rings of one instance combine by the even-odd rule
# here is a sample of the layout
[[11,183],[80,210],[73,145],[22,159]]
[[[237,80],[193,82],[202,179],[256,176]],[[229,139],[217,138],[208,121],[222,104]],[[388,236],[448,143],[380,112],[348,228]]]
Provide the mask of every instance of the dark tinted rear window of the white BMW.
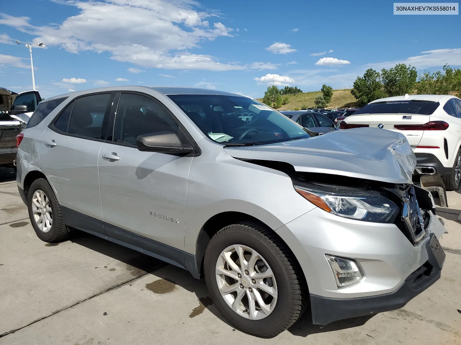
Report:
[[431,115],[440,104],[425,101],[391,101],[367,104],[357,114],[419,114]]

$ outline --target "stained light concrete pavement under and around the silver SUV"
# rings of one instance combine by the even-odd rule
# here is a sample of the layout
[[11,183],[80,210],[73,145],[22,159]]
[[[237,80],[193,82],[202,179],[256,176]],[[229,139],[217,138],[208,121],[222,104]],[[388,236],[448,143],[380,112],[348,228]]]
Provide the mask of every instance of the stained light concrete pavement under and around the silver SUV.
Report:
[[259,339],[228,325],[185,270],[80,232],[41,242],[15,182],[0,183],[0,345],[461,344],[461,195],[448,198],[450,211],[438,213],[449,231],[442,277],[408,305],[325,327],[306,312]]

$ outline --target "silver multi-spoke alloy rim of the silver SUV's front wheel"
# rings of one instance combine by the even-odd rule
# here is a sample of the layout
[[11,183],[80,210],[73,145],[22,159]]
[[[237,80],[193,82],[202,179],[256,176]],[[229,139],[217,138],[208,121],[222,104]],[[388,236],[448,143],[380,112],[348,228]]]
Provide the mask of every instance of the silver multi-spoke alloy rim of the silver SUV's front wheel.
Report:
[[277,283],[266,259],[254,249],[236,244],[216,262],[216,282],[226,304],[238,315],[260,320],[277,304]]

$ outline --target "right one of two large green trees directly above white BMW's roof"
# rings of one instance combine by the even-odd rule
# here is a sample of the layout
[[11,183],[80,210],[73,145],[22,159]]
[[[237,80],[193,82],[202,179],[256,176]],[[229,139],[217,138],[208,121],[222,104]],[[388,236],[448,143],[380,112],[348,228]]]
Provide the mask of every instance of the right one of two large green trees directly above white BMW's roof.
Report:
[[398,63],[395,67],[381,70],[381,81],[384,92],[390,97],[403,96],[406,93],[413,93],[416,86],[418,72],[414,67],[405,63]]

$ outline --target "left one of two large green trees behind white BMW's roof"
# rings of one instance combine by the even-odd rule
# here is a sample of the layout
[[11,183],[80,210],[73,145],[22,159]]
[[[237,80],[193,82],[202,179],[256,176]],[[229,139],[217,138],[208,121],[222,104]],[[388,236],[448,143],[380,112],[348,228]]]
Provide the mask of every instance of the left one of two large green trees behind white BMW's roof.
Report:
[[357,77],[354,81],[354,88],[350,93],[361,107],[375,99],[387,97],[387,94],[383,91],[379,72],[371,68],[366,70],[363,78]]

